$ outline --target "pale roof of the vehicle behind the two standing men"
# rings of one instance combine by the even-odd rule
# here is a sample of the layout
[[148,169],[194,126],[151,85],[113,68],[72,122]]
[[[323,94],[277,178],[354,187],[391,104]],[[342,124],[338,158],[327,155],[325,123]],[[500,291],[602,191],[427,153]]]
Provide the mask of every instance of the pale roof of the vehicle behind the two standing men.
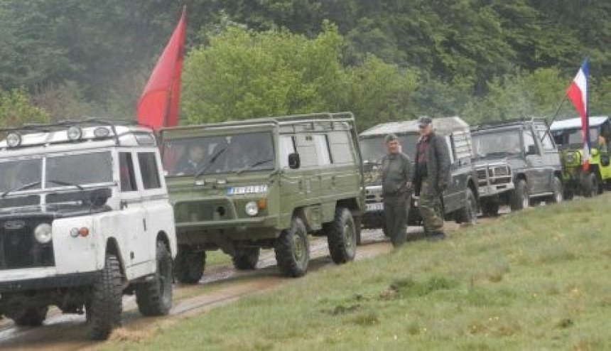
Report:
[[[458,116],[433,119],[433,128],[440,134],[452,134],[454,131],[469,131],[469,124]],[[418,120],[394,121],[377,124],[363,131],[359,136],[364,138],[387,134],[411,134],[418,132]]]

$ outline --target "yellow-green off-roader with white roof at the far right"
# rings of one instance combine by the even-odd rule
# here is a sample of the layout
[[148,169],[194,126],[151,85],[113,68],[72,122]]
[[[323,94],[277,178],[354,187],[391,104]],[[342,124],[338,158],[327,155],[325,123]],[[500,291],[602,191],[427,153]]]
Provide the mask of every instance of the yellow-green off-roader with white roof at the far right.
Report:
[[609,185],[611,181],[609,117],[590,117],[591,149],[588,171],[583,171],[582,167],[581,119],[555,121],[550,129],[553,139],[561,150],[565,198],[571,199],[575,194],[591,197],[602,193],[604,188],[602,185]]

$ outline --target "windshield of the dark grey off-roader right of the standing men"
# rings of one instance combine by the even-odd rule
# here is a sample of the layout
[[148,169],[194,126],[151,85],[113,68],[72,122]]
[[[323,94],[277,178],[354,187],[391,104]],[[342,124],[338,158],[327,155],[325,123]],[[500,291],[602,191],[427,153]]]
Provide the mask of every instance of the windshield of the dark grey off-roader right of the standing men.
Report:
[[493,154],[521,153],[519,129],[494,131],[472,135],[473,148],[477,156]]

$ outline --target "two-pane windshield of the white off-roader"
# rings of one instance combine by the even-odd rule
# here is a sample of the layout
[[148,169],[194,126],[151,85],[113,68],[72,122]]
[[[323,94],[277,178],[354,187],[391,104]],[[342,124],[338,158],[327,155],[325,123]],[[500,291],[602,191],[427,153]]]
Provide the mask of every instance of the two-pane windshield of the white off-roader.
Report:
[[[112,182],[109,151],[67,156],[48,156],[44,188],[66,184],[87,185]],[[43,158],[0,162],[0,193],[9,190],[37,190],[42,187]],[[30,185],[30,186],[28,186]]]

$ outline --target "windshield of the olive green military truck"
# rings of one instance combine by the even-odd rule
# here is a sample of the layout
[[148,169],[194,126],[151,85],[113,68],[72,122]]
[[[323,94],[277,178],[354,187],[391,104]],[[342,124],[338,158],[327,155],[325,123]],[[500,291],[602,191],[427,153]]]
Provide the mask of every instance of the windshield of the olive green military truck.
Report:
[[274,169],[271,132],[168,140],[163,143],[163,168],[169,176]]

